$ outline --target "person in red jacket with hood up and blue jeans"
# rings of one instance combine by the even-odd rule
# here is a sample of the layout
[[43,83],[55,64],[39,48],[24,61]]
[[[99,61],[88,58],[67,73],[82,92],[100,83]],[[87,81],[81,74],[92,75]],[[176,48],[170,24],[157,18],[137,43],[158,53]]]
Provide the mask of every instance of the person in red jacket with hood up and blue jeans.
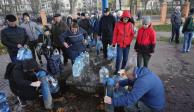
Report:
[[116,23],[114,28],[112,45],[117,45],[115,74],[117,74],[118,70],[120,69],[121,61],[121,69],[124,69],[128,60],[130,44],[134,37],[133,24],[131,21],[132,19],[130,12],[125,10],[123,11],[120,21]]

